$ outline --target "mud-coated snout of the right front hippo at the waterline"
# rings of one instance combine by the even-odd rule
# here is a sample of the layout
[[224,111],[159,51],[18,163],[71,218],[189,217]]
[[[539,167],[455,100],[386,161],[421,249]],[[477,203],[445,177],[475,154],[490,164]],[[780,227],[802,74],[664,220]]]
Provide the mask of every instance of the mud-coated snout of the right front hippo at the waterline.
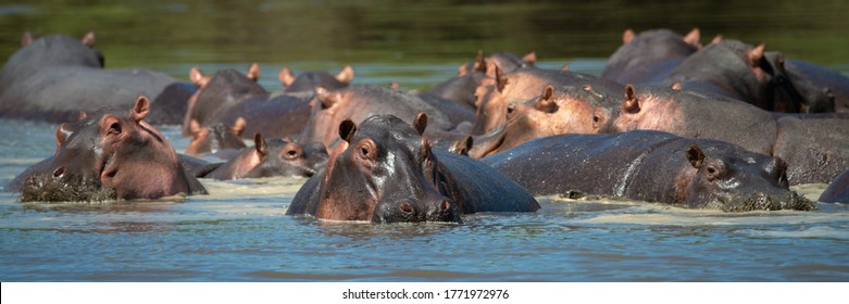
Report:
[[767,194],[764,192],[754,192],[748,198],[737,202],[725,204],[725,212],[747,212],[747,211],[778,211],[796,210],[811,211],[816,208],[816,204],[810,200],[800,197],[795,191],[783,191],[786,193]]

